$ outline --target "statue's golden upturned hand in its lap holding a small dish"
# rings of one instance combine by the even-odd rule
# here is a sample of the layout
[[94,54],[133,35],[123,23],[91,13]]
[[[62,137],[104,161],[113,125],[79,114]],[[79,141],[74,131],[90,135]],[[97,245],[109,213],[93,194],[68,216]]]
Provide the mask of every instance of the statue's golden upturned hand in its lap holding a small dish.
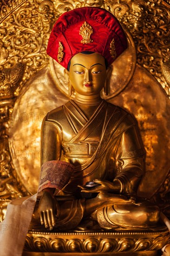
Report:
[[118,186],[114,185],[113,182],[109,181],[100,181],[100,180],[94,180],[94,182],[100,184],[100,186],[94,187],[94,188],[85,188],[84,186],[78,186],[81,189],[81,192],[85,193],[98,193],[98,192],[117,192]]

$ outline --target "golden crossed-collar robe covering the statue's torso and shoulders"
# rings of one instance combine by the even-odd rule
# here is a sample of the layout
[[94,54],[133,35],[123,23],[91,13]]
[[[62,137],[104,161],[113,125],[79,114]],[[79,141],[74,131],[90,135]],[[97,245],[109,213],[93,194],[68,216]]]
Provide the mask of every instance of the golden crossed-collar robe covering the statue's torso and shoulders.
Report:
[[[61,144],[58,159],[57,134]],[[74,164],[70,182],[63,189],[68,193],[76,194],[77,185],[94,179],[118,179],[122,193],[131,194],[144,172],[144,149],[135,121],[122,108],[106,101],[90,120],[75,101],[54,109],[42,124],[42,148],[42,163],[63,160]]]

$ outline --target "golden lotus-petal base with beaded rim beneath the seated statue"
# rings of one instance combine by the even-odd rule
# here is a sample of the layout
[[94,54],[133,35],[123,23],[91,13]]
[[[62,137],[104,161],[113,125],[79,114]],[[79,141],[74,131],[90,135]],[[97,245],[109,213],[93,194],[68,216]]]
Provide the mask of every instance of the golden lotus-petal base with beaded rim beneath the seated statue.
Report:
[[[51,235],[50,238],[49,235]],[[131,230],[121,233],[33,231],[26,236],[25,250],[41,252],[45,249],[48,252],[98,253],[98,255],[100,253],[126,251],[128,255],[128,252],[161,249],[168,242],[168,239],[168,230],[164,232],[135,232]]]

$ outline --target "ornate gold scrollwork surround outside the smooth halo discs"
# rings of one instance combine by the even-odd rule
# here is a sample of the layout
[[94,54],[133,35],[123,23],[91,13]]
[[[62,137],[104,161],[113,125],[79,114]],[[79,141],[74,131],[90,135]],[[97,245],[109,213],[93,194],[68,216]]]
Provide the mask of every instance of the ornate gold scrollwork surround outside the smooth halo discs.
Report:
[[[137,68],[142,67],[144,72],[149,72],[148,77],[153,78],[155,87],[160,85],[159,90],[164,90],[162,93],[164,98],[160,103],[162,101],[163,105],[163,102],[168,102],[170,97],[169,0],[2,0],[0,3],[0,221],[5,216],[8,202],[17,197],[33,194],[20,181],[20,175],[13,164],[12,150],[9,148],[9,136],[13,132],[10,130],[13,108],[16,101],[19,104],[20,97],[26,92],[28,82],[49,64],[46,45],[55,20],[65,11],[84,6],[103,7],[118,18],[135,43]],[[66,99],[65,96],[63,97]],[[120,100],[120,94],[118,97]],[[115,102],[120,102],[119,100],[115,98]],[[163,125],[167,121],[167,116],[162,122]],[[144,118],[137,118],[139,128],[143,127],[141,123]],[[147,129],[151,128],[153,127]],[[163,136],[166,135],[165,132]],[[145,136],[144,144],[149,144],[153,138],[154,136]],[[157,180],[159,178],[157,176]],[[159,185],[154,193],[150,194],[150,198],[157,202],[166,215],[169,215],[168,166],[161,177],[161,182],[157,184]],[[145,183],[141,185],[141,190],[144,191],[145,185]]]

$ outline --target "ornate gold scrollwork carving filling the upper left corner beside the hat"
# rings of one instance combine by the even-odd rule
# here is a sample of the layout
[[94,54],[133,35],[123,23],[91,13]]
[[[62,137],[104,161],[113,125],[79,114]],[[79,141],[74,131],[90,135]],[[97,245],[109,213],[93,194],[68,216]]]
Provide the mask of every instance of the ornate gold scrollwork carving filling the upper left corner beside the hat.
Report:
[[[17,8],[19,6],[19,8]],[[21,88],[37,71],[48,63],[46,46],[52,29],[53,3],[51,0],[33,2],[33,0],[4,2],[0,12],[0,70],[15,67],[17,63],[25,65]],[[10,13],[10,17],[5,16]],[[43,28],[43,29],[40,29]]]

